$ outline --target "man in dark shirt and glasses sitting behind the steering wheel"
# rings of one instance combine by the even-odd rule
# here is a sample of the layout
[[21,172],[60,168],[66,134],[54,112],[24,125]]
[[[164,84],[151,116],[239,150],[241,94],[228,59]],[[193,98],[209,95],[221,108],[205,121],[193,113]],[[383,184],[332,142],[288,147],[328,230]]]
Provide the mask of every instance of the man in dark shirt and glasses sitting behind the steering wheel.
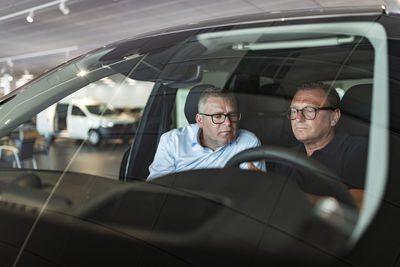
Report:
[[[320,82],[303,84],[292,99],[288,118],[296,139],[303,143],[296,148],[299,153],[321,162],[337,174],[361,209],[367,140],[346,133],[335,134],[341,116],[339,107],[340,98],[334,88]],[[294,170],[291,171],[294,176]],[[298,175],[297,172],[297,181],[307,183],[307,179]]]

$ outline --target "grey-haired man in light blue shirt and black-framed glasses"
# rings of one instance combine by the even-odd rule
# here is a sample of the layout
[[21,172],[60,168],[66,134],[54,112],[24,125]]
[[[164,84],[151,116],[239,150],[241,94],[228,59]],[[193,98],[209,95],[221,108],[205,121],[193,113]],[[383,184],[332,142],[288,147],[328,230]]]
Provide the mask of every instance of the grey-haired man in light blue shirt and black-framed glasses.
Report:
[[[239,129],[241,114],[232,94],[210,87],[201,94],[196,123],[173,129],[161,136],[153,163],[153,178],[185,170],[222,168],[242,150],[260,145],[251,132]],[[265,171],[265,162],[254,165]],[[241,168],[248,165],[242,163]]]

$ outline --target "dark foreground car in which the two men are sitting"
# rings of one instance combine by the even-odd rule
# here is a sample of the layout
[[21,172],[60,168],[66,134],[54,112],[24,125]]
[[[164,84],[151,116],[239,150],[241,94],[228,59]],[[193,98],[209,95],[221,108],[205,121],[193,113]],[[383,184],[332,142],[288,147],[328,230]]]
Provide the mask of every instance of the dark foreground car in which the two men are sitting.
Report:
[[[110,102],[121,94],[130,101],[146,96],[135,140],[120,160],[120,181],[71,172],[70,165],[2,170],[0,261],[398,265],[399,23],[376,9],[318,10],[174,28],[95,50],[0,99],[4,136],[105,77],[116,84],[107,89]],[[124,86],[130,80],[136,85]],[[343,95],[340,128],[368,138],[360,213],[340,197],[343,185],[329,171],[289,149],[297,141],[286,111],[297,85],[311,81],[333,85]],[[196,107],[188,99],[207,84],[235,94],[241,128],[270,152],[269,171],[226,167],[144,182],[160,136],[193,122]],[[310,203],[297,184],[273,172],[274,160],[320,175],[339,206]]]

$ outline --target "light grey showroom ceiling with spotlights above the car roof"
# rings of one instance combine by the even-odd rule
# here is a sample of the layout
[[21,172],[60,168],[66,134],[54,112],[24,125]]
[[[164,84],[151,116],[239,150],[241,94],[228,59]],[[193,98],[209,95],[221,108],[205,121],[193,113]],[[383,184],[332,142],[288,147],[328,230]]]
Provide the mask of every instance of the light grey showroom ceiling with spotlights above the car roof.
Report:
[[[37,75],[101,45],[140,33],[227,15],[288,9],[380,6],[378,0],[0,1],[0,76]],[[48,5],[46,7],[46,5]],[[33,22],[27,15],[33,9]],[[15,87],[12,84],[12,87]]]

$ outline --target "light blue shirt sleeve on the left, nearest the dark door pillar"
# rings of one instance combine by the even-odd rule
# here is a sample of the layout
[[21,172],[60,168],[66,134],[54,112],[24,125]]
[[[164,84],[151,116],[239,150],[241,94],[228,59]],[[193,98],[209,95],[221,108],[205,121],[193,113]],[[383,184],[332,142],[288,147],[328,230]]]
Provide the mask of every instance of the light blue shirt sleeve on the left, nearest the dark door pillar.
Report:
[[150,174],[146,181],[175,171],[173,141],[173,137],[168,133],[161,136],[154,160],[149,166]]

